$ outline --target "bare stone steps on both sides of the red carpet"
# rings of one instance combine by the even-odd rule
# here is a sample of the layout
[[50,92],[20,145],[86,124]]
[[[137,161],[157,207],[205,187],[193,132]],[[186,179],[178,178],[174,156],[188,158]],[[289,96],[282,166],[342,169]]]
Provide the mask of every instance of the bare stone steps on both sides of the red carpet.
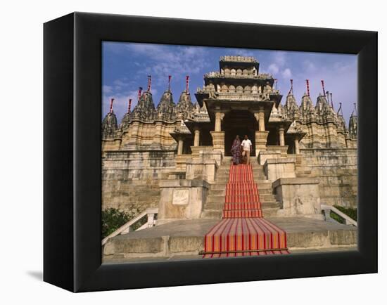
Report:
[[[208,191],[207,201],[205,202],[202,219],[221,219],[222,209],[226,192],[226,184],[229,181],[229,167],[231,157],[224,157],[222,165],[217,169],[215,183],[212,183]],[[262,165],[257,160],[251,160],[255,183],[258,183],[258,192],[260,202],[262,203],[262,212],[264,217],[275,216],[279,209],[279,203],[275,200],[272,183],[266,180]]]

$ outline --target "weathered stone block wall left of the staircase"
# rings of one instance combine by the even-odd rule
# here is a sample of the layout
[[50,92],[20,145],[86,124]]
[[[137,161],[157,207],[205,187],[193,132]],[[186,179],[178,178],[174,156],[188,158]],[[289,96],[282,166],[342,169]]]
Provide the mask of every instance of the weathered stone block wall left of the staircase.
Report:
[[158,207],[160,179],[175,170],[175,151],[110,151],[102,160],[102,209]]

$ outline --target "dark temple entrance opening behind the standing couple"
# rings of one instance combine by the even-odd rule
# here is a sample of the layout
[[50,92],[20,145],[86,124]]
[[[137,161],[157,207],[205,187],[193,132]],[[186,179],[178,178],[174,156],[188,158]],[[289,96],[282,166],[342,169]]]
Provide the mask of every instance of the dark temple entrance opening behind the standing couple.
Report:
[[239,135],[241,141],[247,134],[251,143],[251,156],[255,156],[255,130],[258,130],[258,122],[254,115],[247,110],[232,110],[228,112],[222,122],[224,130],[224,155],[231,156],[231,145],[236,135]]

